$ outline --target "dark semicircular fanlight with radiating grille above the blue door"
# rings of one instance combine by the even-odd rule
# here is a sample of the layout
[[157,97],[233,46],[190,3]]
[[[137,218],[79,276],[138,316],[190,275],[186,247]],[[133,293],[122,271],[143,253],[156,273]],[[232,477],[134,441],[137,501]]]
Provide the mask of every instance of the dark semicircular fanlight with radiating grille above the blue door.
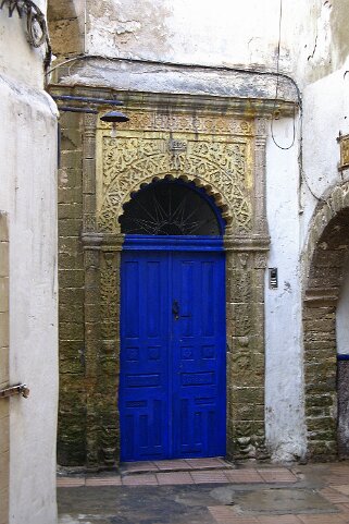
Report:
[[120,223],[126,234],[222,234],[209,198],[176,182],[158,182],[140,190],[125,204]]

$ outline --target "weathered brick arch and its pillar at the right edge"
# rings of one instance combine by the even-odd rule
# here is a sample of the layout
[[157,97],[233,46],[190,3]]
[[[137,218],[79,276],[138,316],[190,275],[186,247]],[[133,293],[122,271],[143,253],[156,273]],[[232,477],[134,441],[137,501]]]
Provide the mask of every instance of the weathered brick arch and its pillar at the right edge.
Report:
[[336,308],[349,258],[349,184],[315,209],[306,249],[303,342],[310,458],[338,453]]

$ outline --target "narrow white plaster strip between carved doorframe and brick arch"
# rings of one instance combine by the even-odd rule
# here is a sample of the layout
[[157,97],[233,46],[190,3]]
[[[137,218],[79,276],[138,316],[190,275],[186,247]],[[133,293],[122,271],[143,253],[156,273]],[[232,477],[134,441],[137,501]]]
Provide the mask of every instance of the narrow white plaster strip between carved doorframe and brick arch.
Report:
[[[292,142],[292,119],[274,123],[276,142]],[[298,132],[298,119],[296,121]],[[298,137],[288,150],[267,139],[266,203],[271,235],[269,268],[278,270],[278,288],[265,275],[266,442],[275,461],[306,452],[299,276]]]

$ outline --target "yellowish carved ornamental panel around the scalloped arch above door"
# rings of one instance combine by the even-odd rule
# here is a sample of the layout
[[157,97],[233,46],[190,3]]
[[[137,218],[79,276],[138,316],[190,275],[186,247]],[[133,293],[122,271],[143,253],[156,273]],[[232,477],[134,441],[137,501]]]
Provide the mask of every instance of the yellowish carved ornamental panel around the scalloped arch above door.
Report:
[[[126,126],[129,130],[124,131],[123,126],[117,139],[111,138],[103,129],[99,133],[100,231],[120,233],[119,217],[133,193],[165,178],[203,187],[221,208],[228,228],[251,230],[251,122],[137,113]],[[136,131],[137,127],[142,131]],[[153,130],[161,133],[151,132]]]

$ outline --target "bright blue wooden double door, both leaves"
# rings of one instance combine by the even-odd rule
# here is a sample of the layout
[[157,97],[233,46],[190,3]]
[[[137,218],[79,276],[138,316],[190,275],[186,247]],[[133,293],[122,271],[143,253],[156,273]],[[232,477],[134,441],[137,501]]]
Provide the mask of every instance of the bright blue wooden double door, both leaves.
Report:
[[124,251],[121,459],[225,454],[223,251]]

